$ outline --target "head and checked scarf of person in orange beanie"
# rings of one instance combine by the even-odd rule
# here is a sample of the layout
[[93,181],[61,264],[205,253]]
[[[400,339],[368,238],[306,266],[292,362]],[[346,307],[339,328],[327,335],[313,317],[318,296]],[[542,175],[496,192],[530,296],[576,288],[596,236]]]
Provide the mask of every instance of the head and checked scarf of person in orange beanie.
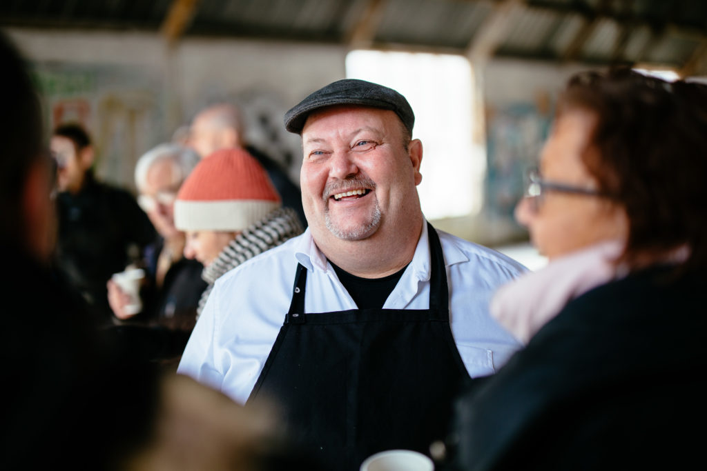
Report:
[[238,148],[199,162],[177,194],[175,226],[186,232],[185,256],[204,265],[199,312],[221,275],[303,230],[257,160]]

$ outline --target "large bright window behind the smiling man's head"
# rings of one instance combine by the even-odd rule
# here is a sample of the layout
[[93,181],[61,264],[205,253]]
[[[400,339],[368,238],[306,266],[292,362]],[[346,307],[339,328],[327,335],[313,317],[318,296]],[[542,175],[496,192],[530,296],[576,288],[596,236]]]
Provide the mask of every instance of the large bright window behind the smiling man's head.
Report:
[[463,56],[357,50],[346,76],[394,88],[415,113],[413,138],[422,141],[422,183],[428,220],[479,213],[485,150],[472,139],[474,80]]

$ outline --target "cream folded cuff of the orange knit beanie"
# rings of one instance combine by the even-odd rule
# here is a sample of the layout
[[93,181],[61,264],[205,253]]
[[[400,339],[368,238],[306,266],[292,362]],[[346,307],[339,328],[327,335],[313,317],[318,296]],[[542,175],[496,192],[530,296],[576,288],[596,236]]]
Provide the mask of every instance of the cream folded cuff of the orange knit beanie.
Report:
[[276,201],[175,201],[175,227],[180,231],[242,231],[272,210]]

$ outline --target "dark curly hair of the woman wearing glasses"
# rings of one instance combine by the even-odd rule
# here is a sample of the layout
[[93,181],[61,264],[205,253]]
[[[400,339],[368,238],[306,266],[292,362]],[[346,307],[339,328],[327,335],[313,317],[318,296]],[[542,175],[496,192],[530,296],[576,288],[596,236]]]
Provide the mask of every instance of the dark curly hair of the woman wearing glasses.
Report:
[[707,266],[707,85],[667,82],[628,68],[573,76],[558,102],[596,114],[583,161],[626,210],[619,262],[689,251],[680,271]]

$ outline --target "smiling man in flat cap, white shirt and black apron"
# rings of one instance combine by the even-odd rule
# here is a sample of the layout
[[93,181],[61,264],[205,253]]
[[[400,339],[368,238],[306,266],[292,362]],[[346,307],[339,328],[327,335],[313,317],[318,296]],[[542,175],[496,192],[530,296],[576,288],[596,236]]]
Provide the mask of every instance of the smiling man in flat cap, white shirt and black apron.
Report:
[[426,222],[413,124],[402,95],[358,80],[286,114],[309,227],[216,282],[180,364],[241,403],[278,405],[325,469],[428,453],[459,388],[519,346],[488,303],[524,268]]

